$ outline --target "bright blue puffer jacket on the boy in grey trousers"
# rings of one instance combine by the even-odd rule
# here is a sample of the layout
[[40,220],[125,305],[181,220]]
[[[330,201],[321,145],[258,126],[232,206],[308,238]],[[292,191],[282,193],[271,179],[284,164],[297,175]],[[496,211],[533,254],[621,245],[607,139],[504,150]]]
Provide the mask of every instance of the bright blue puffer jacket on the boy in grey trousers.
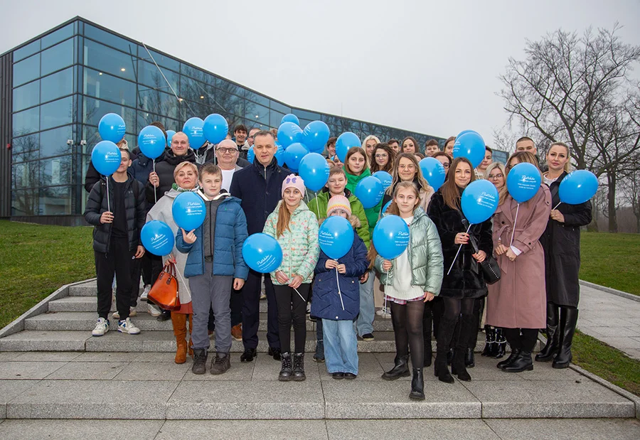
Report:
[[[197,240],[188,245],[182,237],[182,230],[176,233],[176,249],[188,253],[185,277],[196,277],[204,273],[204,255],[202,251],[202,226],[196,229]],[[242,259],[242,244],[247,239],[247,219],[240,208],[240,200],[225,198],[215,211],[215,230],[213,232],[213,274],[247,279],[249,268]]]

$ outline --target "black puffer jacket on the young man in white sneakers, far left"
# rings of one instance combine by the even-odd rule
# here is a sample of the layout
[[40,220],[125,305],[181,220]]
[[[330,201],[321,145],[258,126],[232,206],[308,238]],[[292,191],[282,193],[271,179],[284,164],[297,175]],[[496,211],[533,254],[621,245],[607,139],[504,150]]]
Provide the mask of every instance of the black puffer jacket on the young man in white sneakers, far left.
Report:
[[[114,180],[109,177],[109,188],[115,188]],[[109,193],[109,202],[114,204],[113,194]],[[107,181],[103,177],[97,182],[89,193],[85,220],[93,228],[93,249],[97,252],[108,253],[111,241],[111,223],[100,222],[100,216],[108,210],[107,205]],[[127,235],[129,236],[129,250],[135,250],[140,241],[140,231],[146,221],[146,200],[144,198],[144,186],[130,174],[127,186],[124,187],[124,210],[127,215]]]

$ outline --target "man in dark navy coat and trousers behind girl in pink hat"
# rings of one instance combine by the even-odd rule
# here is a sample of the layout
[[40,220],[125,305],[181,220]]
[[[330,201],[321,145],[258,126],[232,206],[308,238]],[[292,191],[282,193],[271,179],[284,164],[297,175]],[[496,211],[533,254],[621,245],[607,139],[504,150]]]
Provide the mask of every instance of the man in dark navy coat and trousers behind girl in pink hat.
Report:
[[[231,195],[240,198],[242,210],[247,218],[249,235],[262,232],[267,217],[276,208],[281,197],[282,182],[287,170],[278,166],[274,154],[277,151],[275,139],[270,132],[257,132],[254,136],[255,160],[251,166],[233,173]],[[242,288],[242,343],[245,353],[242,362],[251,362],[256,355],[258,343],[257,329],[260,323],[260,285],[262,274],[249,271],[249,277]],[[265,274],[267,293],[267,340],[270,355],[280,360],[280,340],[278,337],[278,312],[273,284],[269,274]]]

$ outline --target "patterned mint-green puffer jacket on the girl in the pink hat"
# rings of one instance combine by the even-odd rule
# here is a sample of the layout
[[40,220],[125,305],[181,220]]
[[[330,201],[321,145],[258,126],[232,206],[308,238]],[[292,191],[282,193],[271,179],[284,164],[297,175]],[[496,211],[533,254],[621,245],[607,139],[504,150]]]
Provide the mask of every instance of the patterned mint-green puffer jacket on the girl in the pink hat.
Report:
[[[282,200],[278,202],[275,210],[267,217],[265,222],[265,232],[278,240],[282,247],[282,263],[277,270],[293,279],[295,275],[302,277],[303,283],[311,283],[314,279],[314,269],[320,255],[320,245],[318,243],[318,220],[316,215],[311,213],[304,201],[291,215],[289,229],[285,229],[280,237],[276,237],[276,225],[278,223],[278,213],[282,208]],[[273,284],[282,286],[275,276],[275,271],[271,272]]]

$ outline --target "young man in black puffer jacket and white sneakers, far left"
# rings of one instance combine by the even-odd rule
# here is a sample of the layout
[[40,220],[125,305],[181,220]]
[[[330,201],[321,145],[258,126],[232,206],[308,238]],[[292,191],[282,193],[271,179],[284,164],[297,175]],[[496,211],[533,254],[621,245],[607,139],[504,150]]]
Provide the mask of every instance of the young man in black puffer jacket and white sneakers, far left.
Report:
[[[98,321],[93,336],[109,331],[108,314],[112,302],[112,281],[116,276],[118,331],[137,335],[140,329],[129,319],[132,297],[132,259],[144,255],[140,231],[146,220],[144,187],[127,174],[129,151],[120,149],[122,161],[112,176],[101,178],[89,194],[85,220],[94,225],[93,250],[97,277]],[[107,184],[109,188],[107,188]],[[108,189],[108,191],[107,191]]]

